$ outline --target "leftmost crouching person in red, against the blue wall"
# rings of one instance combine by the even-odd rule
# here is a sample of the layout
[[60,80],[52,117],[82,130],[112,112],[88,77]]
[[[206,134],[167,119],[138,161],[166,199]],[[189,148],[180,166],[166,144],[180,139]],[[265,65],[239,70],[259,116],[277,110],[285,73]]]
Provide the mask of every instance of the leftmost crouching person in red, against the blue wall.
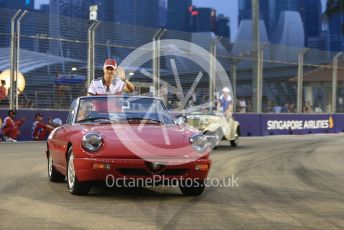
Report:
[[25,119],[14,121],[16,112],[14,110],[8,111],[8,116],[4,119],[1,132],[7,142],[17,142],[17,137],[20,134],[20,126],[24,123]]

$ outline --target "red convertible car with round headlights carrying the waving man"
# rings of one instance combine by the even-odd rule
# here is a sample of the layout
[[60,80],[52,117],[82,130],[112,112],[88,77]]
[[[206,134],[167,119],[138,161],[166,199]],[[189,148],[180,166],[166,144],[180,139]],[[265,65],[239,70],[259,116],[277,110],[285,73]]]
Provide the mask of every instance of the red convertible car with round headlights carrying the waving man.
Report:
[[48,176],[67,178],[76,195],[111,178],[177,182],[184,195],[197,196],[211,165],[211,138],[176,124],[158,98],[79,97],[48,138]]

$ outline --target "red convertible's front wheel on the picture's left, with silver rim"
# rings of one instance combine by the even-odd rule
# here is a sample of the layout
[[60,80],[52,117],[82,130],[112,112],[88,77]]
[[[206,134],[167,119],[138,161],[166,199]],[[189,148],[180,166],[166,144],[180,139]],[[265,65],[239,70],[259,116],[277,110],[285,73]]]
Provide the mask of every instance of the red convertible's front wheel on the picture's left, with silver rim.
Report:
[[68,151],[67,185],[69,192],[74,195],[86,195],[91,189],[91,185],[88,182],[80,182],[76,178],[72,147]]

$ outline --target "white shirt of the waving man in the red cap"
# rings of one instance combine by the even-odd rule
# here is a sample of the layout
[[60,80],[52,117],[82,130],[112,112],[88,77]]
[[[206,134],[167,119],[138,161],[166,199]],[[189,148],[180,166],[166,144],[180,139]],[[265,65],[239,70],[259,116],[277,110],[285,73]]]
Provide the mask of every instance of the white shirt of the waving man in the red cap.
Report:
[[104,84],[104,80],[102,78],[95,79],[91,82],[87,92],[93,95],[121,95],[124,85],[125,83],[118,77],[113,79],[109,88]]

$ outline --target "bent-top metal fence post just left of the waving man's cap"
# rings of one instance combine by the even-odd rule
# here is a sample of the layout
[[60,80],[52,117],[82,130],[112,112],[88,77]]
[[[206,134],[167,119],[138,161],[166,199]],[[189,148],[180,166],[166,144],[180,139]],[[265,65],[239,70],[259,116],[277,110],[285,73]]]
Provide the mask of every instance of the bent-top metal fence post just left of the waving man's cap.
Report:
[[87,49],[87,81],[86,91],[94,79],[94,44],[95,44],[95,30],[100,24],[100,21],[93,21],[88,28],[88,49]]

